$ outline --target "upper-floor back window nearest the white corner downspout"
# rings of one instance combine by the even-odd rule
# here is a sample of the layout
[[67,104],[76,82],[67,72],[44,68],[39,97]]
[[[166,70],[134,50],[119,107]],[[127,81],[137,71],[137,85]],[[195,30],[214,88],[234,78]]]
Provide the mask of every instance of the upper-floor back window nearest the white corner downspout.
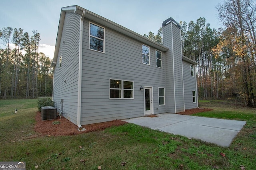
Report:
[[90,23],[89,48],[104,53],[105,51],[105,29],[96,24]]

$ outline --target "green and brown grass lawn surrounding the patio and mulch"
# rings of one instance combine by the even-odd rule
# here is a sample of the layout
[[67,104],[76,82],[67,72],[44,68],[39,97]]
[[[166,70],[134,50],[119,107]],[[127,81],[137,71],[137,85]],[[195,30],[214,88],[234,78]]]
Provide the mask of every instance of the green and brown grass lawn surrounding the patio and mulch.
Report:
[[253,170],[256,165],[255,109],[200,101],[200,107],[214,110],[198,116],[247,121],[224,148],[130,123],[74,136],[38,136],[36,101],[0,100],[0,161],[25,161],[27,170]]

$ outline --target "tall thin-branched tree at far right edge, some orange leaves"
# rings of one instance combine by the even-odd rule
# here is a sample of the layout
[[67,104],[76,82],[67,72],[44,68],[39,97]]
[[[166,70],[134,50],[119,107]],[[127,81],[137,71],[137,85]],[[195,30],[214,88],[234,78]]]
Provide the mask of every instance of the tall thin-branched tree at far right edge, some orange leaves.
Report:
[[234,31],[232,51],[240,59],[243,91],[241,96],[246,106],[255,105],[255,58],[256,58],[256,3],[252,0],[224,0],[216,7],[219,19]]

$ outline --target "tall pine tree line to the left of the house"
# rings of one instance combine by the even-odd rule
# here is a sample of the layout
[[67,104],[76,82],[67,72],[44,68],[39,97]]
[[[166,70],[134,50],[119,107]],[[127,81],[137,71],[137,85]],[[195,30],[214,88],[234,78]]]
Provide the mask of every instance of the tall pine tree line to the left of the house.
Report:
[[[23,29],[0,29],[0,98],[52,96],[51,60],[39,53],[40,33]],[[14,45],[11,49],[10,45]]]

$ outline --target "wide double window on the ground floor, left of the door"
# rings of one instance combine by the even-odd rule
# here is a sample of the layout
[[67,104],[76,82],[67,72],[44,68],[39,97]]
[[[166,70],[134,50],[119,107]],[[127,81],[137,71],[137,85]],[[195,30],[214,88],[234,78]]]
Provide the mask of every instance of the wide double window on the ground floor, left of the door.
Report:
[[133,99],[133,81],[110,79],[110,99]]

